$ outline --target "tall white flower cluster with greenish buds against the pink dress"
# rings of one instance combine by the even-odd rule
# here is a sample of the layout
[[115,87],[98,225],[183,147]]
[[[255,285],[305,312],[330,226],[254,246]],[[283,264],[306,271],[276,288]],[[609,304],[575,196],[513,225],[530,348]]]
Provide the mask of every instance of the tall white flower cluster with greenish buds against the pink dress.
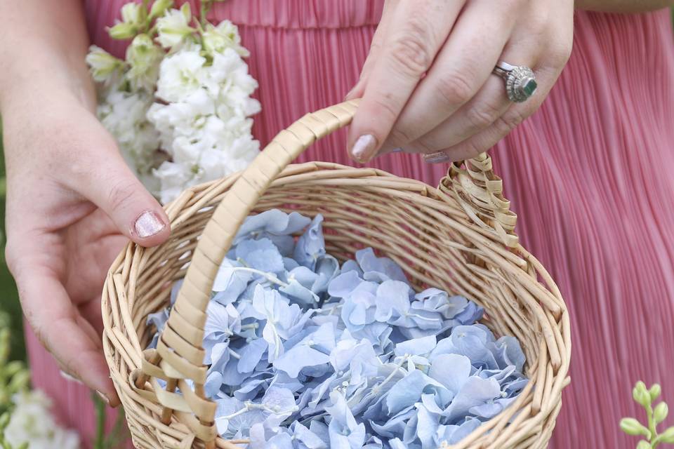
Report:
[[126,4],[110,29],[133,41],[126,60],[98,47],[87,56],[99,81],[98,116],[129,166],[160,201],[244,169],[259,153],[251,115],[260,103],[237,27],[197,22],[189,4]]

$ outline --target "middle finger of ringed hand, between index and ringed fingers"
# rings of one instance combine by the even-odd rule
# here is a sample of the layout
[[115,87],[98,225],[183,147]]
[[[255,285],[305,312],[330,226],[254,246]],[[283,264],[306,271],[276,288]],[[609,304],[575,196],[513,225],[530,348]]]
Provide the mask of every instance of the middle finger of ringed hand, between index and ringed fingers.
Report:
[[516,16],[505,4],[508,2],[478,0],[466,5],[384,149],[405,147],[421,138],[485,86],[515,25]]

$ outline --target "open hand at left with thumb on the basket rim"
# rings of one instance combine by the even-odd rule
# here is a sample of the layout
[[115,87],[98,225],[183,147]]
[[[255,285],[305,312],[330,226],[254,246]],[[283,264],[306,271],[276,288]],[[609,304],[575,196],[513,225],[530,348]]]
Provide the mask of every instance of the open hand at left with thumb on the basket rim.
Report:
[[34,87],[2,104],[8,266],[27,321],[60,368],[114,406],[101,342],[103,281],[127,239],[157,245],[169,220],[91,105]]

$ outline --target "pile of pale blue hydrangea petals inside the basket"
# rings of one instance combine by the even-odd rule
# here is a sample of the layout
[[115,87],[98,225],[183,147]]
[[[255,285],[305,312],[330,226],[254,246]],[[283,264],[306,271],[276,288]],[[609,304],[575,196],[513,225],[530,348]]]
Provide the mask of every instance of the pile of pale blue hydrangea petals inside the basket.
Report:
[[[527,379],[514,337],[496,340],[465,297],[415,293],[371,248],[340,267],[322,221],[251,215],[220,267],[203,346],[221,436],[250,449],[435,449],[515,401]],[[161,330],[167,317],[148,321]]]

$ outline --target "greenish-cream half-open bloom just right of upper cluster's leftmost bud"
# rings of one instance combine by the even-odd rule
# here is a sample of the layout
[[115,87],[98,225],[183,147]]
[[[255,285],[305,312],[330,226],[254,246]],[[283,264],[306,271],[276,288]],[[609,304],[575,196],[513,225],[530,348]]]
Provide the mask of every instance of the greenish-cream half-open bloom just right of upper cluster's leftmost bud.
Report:
[[159,76],[159,63],[164,58],[164,51],[154,45],[150,36],[138,34],[131,45],[126,48],[126,61],[131,65],[127,76],[133,90],[145,89],[154,91],[154,84]]

